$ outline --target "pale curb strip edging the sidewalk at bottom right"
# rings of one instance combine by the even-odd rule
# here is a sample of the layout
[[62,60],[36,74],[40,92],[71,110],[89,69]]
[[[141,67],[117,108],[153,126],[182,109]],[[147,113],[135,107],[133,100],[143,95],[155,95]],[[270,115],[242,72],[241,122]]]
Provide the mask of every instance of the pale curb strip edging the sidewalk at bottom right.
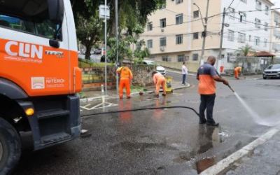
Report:
[[239,151],[232,153],[232,155],[228,156],[228,158],[225,158],[220,162],[218,162],[216,165],[213,165],[212,167],[205,169],[201,173],[201,175],[220,174],[225,169],[228,169],[230,165],[232,165],[232,163],[248,155],[248,153],[253,151],[253,149],[255,149],[257,146],[260,146],[264,144],[266,141],[268,141],[269,139],[271,139],[274,136],[274,134],[276,134],[277,132],[279,132],[279,129],[277,129],[276,127],[272,128],[272,130],[269,130],[262,136],[258,137],[258,139],[255,139],[255,141],[252,141],[250,144],[244,146]]

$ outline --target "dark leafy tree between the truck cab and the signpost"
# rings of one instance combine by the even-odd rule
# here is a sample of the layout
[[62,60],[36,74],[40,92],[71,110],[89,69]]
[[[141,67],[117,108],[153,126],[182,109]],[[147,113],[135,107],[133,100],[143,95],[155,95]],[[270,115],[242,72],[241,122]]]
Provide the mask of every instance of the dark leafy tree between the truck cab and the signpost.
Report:
[[90,0],[73,1],[76,20],[76,34],[80,43],[85,45],[85,59],[90,59],[92,45],[102,40],[102,20],[99,19],[97,6]]

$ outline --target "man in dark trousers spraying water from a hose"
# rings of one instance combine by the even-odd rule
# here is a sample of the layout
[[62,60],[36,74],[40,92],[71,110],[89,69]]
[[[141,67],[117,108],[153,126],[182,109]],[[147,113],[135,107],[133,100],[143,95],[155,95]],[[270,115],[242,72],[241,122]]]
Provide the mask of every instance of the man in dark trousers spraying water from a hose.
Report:
[[[228,80],[221,78],[216,69],[214,68],[214,64],[216,62],[216,57],[209,56],[207,62],[204,63],[197,70],[197,80],[199,80],[198,84],[198,92],[200,94],[200,124],[207,123],[207,125],[218,126],[218,123],[215,122],[213,118],[213,108],[216,97],[216,83],[223,82],[225,85],[229,85]],[[207,120],[205,119],[205,109],[207,110]]]

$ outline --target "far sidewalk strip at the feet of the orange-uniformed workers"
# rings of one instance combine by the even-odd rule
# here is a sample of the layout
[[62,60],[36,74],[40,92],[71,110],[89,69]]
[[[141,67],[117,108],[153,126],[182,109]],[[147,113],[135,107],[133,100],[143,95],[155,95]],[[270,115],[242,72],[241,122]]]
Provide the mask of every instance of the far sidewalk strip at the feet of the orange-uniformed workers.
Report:
[[[183,89],[183,88],[188,88],[190,87],[190,84],[186,84],[186,85],[182,85],[181,82],[178,81],[172,81],[172,88],[173,90],[179,90],[179,89]],[[146,92],[153,92],[155,90],[154,86],[149,86],[146,87]],[[137,90],[132,90],[132,95],[133,94],[139,94],[139,91]],[[90,99],[90,98],[94,98],[94,99],[98,99],[98,98],[102,98],[102,92],[101,91],[87,91],[87,92],[83,92],[83,96],[85,98],[83,99]],[[106,97],[118,97],[118,93],[116,90],[107,90],[107,96]]]

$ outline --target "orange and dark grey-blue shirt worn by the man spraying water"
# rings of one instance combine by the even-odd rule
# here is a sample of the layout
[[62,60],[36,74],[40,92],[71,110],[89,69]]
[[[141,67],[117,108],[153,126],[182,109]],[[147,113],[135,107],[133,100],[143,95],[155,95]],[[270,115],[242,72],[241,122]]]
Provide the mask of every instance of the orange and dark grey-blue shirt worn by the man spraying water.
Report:
[[215,94],[216,82],[213,76],[217,76],[218,73],[214,66],[209,63],[205,63],[197,70],[197,76],[200,80],[198,83],[199,94]]

